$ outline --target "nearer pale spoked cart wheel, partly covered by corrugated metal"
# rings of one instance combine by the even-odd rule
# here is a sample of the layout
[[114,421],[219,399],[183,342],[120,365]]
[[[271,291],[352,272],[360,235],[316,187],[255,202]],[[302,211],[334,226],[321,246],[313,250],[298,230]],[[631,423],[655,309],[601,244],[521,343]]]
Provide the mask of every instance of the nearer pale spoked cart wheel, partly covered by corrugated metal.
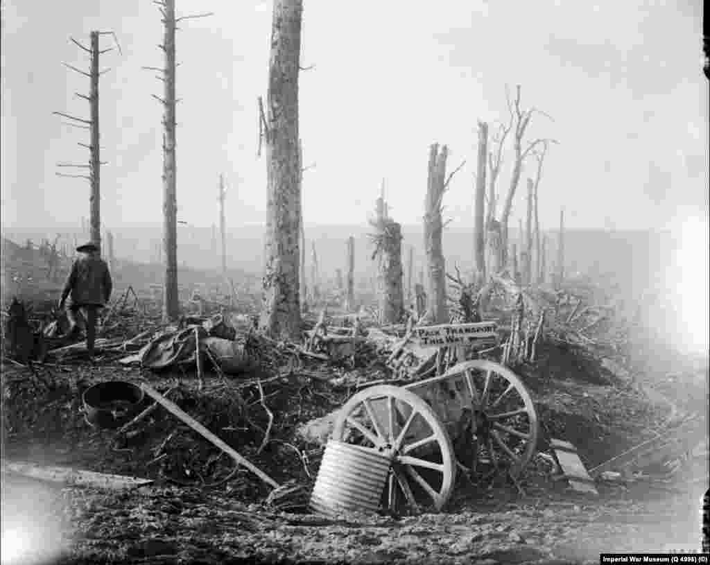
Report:
[[441,510],[456,478],[449,434],[434,410],[404,388],[378,385],[361,390],[339,411],[333,439],[391,457],[383,505],[395,510]]

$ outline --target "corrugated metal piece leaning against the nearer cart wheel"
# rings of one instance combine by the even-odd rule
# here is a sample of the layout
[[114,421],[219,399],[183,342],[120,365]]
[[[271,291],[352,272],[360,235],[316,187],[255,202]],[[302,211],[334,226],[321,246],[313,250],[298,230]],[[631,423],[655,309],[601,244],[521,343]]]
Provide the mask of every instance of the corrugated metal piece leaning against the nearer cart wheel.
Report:
[[389,457],[331,439],[325,446],[310,507],[325,515],[376,512],[390,470]]

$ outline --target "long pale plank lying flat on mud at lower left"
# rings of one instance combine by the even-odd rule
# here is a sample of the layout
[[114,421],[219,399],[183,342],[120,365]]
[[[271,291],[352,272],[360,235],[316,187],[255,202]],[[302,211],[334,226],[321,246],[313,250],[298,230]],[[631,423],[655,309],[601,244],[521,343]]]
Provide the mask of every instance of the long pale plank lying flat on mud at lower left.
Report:
[[83,471],[70,467],[43,467],[35,463],[3,461],[3,473],[16,473],[29,478],[49,483],[61,483],[71,486],[90,486],[109,490],[123,490],[146,486],[153,481],[147,478],[108,475],[95,471]]

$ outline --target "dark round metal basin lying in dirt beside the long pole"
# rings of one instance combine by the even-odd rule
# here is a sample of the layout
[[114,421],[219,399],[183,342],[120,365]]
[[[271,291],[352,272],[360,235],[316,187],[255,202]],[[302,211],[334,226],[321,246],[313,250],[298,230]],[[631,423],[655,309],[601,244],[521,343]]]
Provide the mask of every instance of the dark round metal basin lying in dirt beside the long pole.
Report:
[[89,424],[116,429],[138,415],[143,403],[143,389],[123,380],[109,380],[84,390],[82,400]]

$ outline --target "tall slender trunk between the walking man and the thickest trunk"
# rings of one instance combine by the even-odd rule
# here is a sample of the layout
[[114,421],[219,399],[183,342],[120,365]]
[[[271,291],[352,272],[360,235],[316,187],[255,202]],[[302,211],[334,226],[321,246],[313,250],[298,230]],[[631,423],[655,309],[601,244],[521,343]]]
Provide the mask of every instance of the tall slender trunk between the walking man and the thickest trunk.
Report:
[[178,297],[178,202],[175,161],[175,0],[165,0],[165,94],[163,95],[163,247],[165,283],[163,319],[173,321],[180,315]]

